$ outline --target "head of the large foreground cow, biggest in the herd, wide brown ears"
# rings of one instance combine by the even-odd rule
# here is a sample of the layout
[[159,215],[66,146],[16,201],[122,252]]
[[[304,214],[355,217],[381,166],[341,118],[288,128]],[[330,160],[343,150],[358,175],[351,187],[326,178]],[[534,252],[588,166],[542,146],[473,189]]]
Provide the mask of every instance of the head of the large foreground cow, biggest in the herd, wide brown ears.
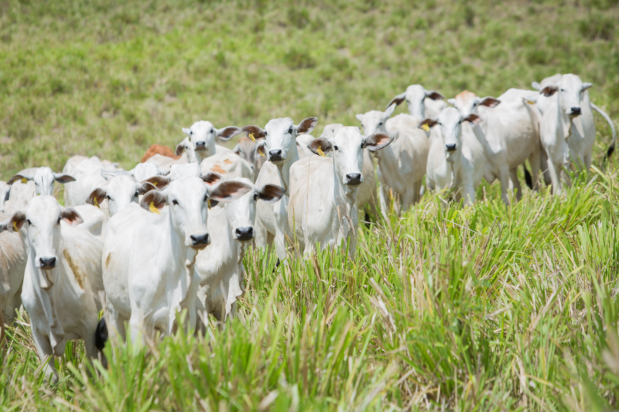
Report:
[[[204,177],[186,177],[173,180],[165,191],[150,190],[140,201],[142,208],[158,212],[166,204],[170,206],[170,219],[175,230],[184,237],[184,245],[196,250],[206,248],[210,243],[206,229],[209,200],[217,202],[234,201],[245,195],[251,186],[235,180],[214,181],[213,173]],[[217,180],[220,180],[221,176]]]

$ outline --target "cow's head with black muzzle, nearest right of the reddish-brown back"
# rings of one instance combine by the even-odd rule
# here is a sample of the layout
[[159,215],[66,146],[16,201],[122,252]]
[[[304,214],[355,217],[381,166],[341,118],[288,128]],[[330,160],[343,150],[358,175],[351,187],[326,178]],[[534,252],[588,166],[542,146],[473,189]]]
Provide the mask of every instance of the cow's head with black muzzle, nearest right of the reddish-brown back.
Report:
[[230,140],[241,129],[236,126],[215,128],[211,122],[200,120],[189,128],[183,127],[183,132],[187,137],[176,145],[176,156],[186,151],[190,162],[200,163],[215,154],[215,137]]

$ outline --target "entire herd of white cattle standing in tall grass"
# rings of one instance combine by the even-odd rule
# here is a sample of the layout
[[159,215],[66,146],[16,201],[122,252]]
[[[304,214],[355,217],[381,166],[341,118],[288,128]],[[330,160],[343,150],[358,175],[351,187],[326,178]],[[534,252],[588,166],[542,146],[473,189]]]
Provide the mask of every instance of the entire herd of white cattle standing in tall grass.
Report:
[[[133,339],[150,340],[173,333],[183,310],[182,327],[233,316],[249,242],[274,247],[279,259],[343,242],[352,254],[359,208],[400,212],[430,189],[472,204],[482,177],[498,178],[508,202],[508,190],[521,195],[516,169],[526,159],[529,186],[539,188],[542,172],[560,193],[568,162],[591,164],[592,110],[612,128],[608,156],[615,128],[577,75],[533,86],[539,92],[464,91],[445,102],[411,85],[386,111],[357,115],[365,135],[331,124],[313,138],[316,117],[280,117],[264,128],[202,120],[183,128],[174,152],[153,145],[132,170],[95,156],[73,156],[62,173],[22,170],[0,184],[0,325],[24,305],[45,374],[56,381],[54,356],[67,340],[83,339],[92,358],[108,332],[126,338],[126,322]],[[409,114],[391,117],[404,102]],[[215,143],[239,133],[232,150]],[[64,183],[65,206],[54,182]]]

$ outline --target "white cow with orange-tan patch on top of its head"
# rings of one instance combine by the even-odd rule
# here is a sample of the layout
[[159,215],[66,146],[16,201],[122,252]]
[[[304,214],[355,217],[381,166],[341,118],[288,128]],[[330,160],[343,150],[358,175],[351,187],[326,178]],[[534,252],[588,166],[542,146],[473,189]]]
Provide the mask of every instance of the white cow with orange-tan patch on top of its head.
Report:
[[516,170],[526,159],[533,169],[531,187],[539,189],[539,116],[535,107],[523,101],[530,94],[529,90],[511,88],[497,99],[490,96],[480,98],[475,93],[463,91],[448,100],[460,111],[463,119],[470,114],[479,116],[472,126],[488,160],[485,177],[488,182],[498,177],[501,198],[506,204],[509,203],[510,181],[516,189],[516,199],[522,196]]

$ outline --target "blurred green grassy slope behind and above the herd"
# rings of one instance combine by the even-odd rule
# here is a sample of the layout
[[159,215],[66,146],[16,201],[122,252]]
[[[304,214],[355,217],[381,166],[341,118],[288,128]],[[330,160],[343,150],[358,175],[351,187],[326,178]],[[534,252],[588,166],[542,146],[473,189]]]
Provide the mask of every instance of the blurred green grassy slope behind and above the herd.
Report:
[[[572,72],[616,119],[617,4],[2,0],[2,177],[60,170],[74,154],[132,167],[200,119],[357,125],[355,113],[384,108],[413,83],[497,96]],[[596,121],[599,160],[610,132]]]

